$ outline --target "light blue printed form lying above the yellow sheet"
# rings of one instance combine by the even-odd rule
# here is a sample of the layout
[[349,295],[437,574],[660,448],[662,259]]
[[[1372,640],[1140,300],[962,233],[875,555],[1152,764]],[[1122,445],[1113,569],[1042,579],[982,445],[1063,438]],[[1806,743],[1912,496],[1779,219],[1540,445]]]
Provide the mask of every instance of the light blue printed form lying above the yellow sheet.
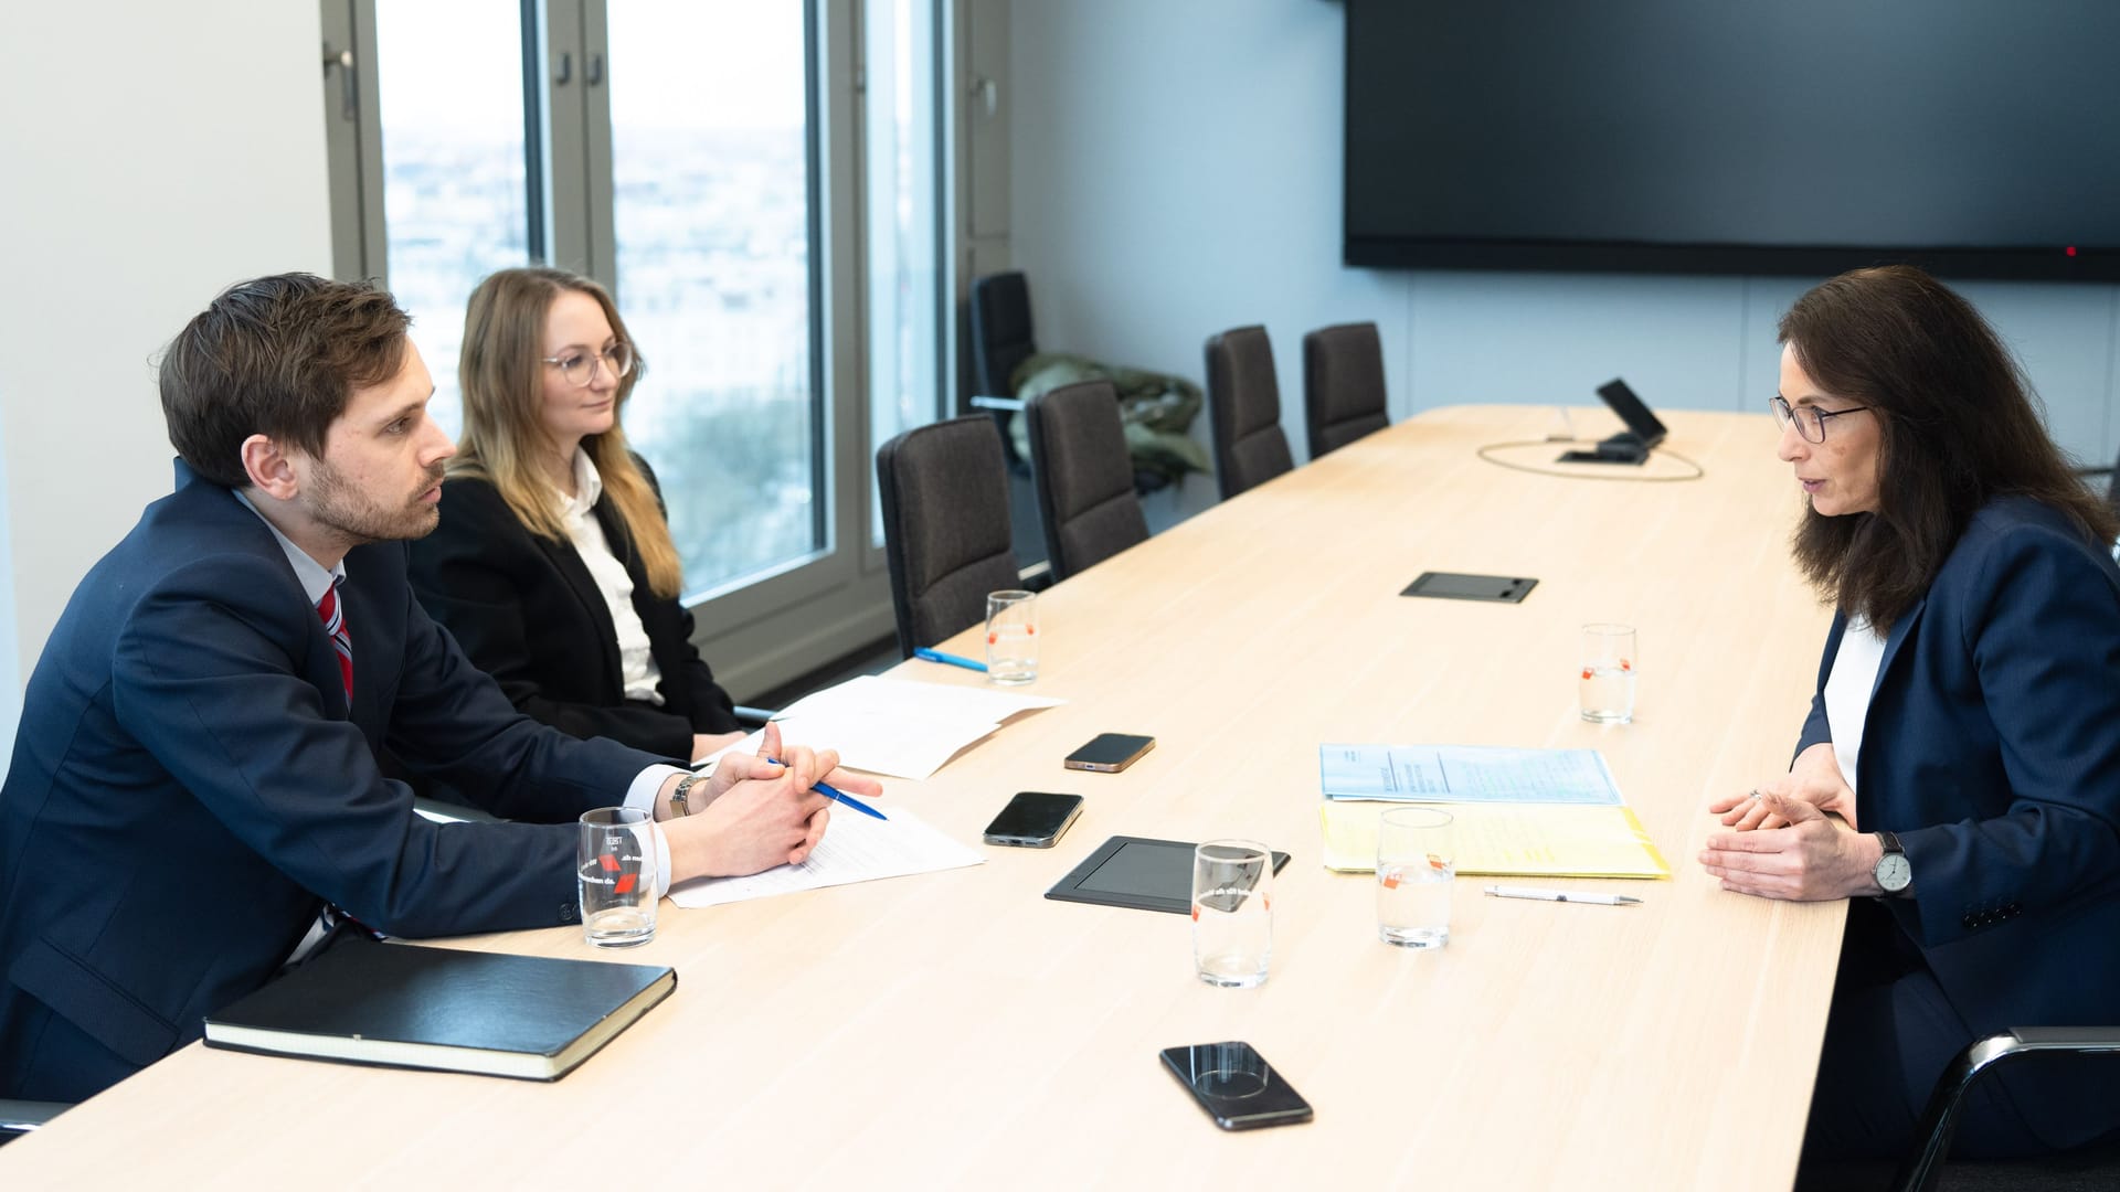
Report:
[[1596,749],[1321,744],[1319,778],[1329,800],[1624,804]]

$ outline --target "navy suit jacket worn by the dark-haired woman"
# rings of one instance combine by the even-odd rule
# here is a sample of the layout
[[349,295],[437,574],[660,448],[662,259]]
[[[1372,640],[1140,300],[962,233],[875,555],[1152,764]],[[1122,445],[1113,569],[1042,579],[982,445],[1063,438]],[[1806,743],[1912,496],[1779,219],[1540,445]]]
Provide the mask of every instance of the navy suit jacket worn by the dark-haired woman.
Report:
[[[1798,753],[1832,740],[1834,617]],[[1912,897],[1885,899],[1972,1027],[2120,1024],[2120,568],[2025,498],[1967,524],[1891,626],[1857,757],[1855,817],[1895,831]],[[2067,1147],[2120,1124],[2120,1065],[1997,1069]],[[2103,1077],[2099,1073],[2105,1073]]]

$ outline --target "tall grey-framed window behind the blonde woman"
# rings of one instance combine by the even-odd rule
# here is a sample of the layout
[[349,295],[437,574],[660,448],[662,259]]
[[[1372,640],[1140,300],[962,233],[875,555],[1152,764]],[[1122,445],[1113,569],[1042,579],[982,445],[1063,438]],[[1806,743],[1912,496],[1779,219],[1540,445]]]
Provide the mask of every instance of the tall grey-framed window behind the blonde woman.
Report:
[[948,401],[946,4],[320,4],[337,269],[413,314],[443,426],[477,280],[587,274],[717,674],[888,636],[871,460]]

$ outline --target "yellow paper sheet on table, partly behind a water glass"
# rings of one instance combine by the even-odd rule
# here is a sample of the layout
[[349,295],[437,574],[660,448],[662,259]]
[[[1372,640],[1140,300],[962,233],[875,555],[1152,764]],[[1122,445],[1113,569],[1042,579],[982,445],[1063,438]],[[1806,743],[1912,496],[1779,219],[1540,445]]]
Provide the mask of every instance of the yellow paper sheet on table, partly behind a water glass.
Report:
[[[1376,821],[1399,802],[1319,804],[1325,867],[1376,870]],[[1459,874],[1668,878],[1671,867],[1624,806],[1429,804],[1450,812]]]

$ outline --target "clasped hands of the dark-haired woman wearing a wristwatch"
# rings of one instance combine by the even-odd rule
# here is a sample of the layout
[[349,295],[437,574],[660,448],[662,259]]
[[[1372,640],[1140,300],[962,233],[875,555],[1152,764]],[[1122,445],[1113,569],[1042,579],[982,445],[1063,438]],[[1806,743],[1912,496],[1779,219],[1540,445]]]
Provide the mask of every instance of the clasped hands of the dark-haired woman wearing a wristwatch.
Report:
[[1726,891],[1794,901],[1878,893],[1874,870],[1883,848],[1874,836],[1855,831],[1855,791],[1838,772],[1806,772],[1800,759],[1796,772],[1719,797],[1709,812],[1721,814],[1730,831],[1709,836],[1700,867],[1721,878]]

